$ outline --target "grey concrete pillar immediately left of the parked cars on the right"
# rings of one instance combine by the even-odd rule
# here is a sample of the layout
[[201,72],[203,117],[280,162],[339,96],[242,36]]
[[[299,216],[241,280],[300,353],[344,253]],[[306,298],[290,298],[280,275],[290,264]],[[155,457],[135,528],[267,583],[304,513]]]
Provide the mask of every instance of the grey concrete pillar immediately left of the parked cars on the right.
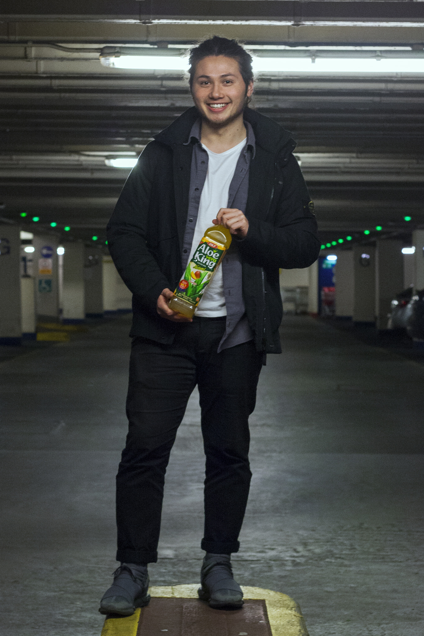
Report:
[[378,240],[376,246],[376,327],[386,329],[390,303],[404,288],[402,242]]

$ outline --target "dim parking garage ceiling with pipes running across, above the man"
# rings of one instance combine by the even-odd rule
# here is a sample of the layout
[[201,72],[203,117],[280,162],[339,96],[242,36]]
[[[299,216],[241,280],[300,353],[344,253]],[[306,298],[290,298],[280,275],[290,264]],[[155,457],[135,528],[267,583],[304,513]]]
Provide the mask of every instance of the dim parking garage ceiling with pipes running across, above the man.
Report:
[[[109,0],[3,0],[3,222],[33,230],[29,219],[38,216],[39,228],[58,224],[51,232],[71,226],[62,232],[67,239],[90,240],[93,232],[103,239],[128,174],[104,159],[138,155],[191,106],[181,72],[104,67],[104,46],[144,45],[144,54],[180,55],[175,46],[218,33],[243,39],[258,56],[346,54],[334,46],[362,57],[375,57],[378,48],[383,56],[424,56],[421,2],[125,0],[119,15],[116,6]],[[271,46],[286,48],[267,50]],[[387,46],[409,50],[391,53]],[[261,73],[252,107],[296,139],[323,240],[344,233],[359,239],[375,225],[383,226],[383,235],[407,240],[411,228],[424,226],[422,74]]]

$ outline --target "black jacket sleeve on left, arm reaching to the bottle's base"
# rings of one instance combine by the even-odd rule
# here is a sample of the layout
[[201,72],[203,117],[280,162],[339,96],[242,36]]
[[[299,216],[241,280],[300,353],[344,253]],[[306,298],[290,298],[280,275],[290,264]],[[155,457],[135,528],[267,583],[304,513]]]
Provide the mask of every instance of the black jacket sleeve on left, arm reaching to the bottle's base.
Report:
[[155,163],[156,144],[147,144],[128,177],[107,224],[107,246],[116,269],[128,289],[156,314],[156,302],[169,282],[147,249],[147,219]]

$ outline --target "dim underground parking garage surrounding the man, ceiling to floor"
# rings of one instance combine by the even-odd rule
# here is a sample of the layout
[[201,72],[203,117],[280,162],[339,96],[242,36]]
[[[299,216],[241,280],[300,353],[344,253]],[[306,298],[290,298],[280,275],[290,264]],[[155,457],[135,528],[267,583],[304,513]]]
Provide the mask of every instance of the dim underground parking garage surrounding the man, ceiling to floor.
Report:
[[[106,225],[193,104],[186,51],[219,34],[254,56],[250,107],[297,143],[321,242],[280,271],[236,576],[296,600],[299,634],[421,635],[423,3],[112,4],[1,5],[1,632],[102,631],[132,307]],[[203,471],[195,389],[153,586],[198,583]]]

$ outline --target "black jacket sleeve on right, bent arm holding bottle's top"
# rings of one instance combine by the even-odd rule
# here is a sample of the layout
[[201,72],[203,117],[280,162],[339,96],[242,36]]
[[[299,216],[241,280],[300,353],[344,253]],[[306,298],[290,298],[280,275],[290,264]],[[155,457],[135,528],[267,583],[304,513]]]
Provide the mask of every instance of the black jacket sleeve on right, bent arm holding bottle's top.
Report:
[[315,215],[310,211],[310,195],[293,155],[281,170],[282,190],[273,221],[257,214],[249,219],[247,237],[238,249],[252,265],[284,269],[312,265],[320,252]]

